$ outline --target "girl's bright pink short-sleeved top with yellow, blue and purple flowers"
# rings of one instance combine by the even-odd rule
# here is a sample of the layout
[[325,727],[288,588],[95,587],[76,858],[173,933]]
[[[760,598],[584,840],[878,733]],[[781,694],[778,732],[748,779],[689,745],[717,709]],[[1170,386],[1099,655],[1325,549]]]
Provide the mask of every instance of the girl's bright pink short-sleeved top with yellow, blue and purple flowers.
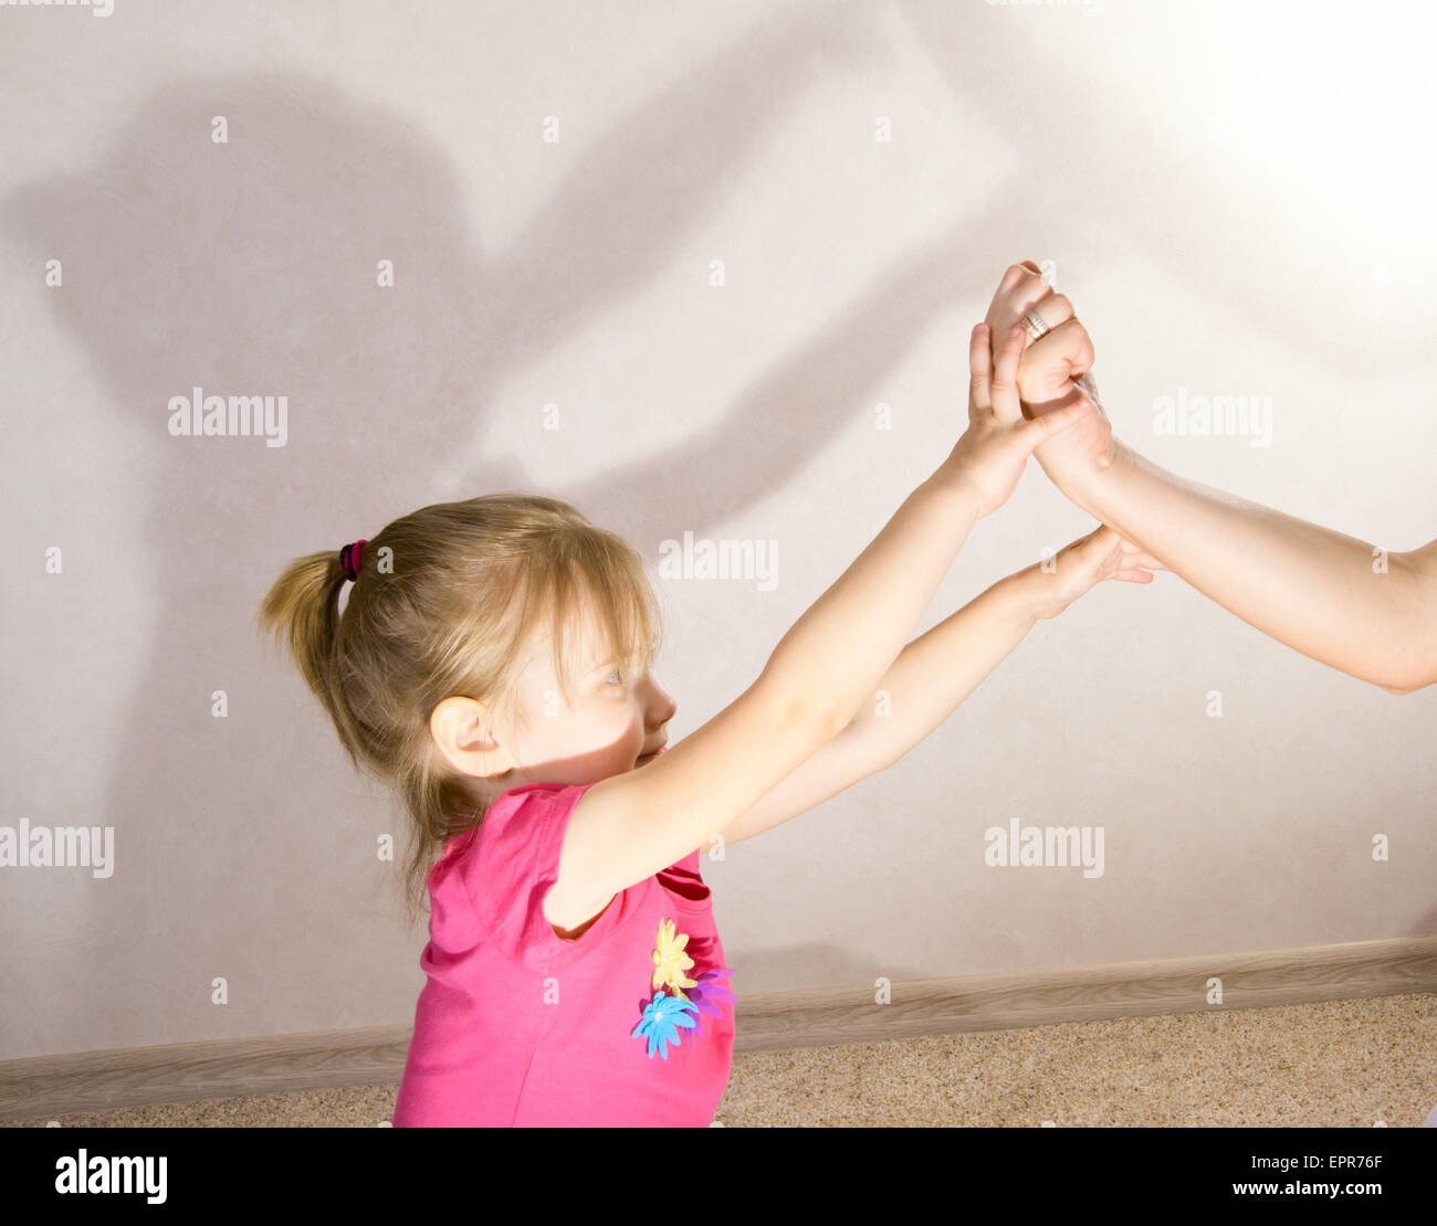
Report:
[[737,998],[698,850],[615,894],[575,940],[543,916],[588,787],[512,788],[430,871],[397,1128],[713,1120]]

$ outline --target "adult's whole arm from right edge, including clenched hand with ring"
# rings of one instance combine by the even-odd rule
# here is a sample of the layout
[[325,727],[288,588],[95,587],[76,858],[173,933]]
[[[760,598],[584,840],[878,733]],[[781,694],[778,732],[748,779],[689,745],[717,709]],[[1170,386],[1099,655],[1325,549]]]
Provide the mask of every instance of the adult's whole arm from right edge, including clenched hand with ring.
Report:
[[[1049,291],[1032,263],[1007,270],[987,317],[1002,327],[1033,306],[1056,323],[1019,370],[1023,402],[1040,415],[1078,395],[1072,379],[1091,368],[1092,345],[1072,304]],[[1384,554],[1186,481],[1119,444],[1101,412],[1036,457],[1073,502],[1265,635],[1392,693],[1437,682],[1437,541]]]

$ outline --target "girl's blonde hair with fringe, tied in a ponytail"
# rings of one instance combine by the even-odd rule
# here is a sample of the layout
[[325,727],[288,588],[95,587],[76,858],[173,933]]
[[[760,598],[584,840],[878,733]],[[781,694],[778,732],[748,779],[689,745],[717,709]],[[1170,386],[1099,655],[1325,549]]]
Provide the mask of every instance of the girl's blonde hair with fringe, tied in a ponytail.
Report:
[[[506,713],[530,645],[552,646],[572,701],[569,643],[589,602],[612,658],[641,670],[657,650],[661,610],[638,550],[558,498],[486,494],[395,520],[364,546],[343,612],[338,550],[295,558],[256,617],[287,643],[356,768],[394,787],[411,817],[402,881],[421,913],[444,843],[483,821],[513,784],[450,765],[430,713],[463,695]],[[507,772],[506,772],[507,774]]]

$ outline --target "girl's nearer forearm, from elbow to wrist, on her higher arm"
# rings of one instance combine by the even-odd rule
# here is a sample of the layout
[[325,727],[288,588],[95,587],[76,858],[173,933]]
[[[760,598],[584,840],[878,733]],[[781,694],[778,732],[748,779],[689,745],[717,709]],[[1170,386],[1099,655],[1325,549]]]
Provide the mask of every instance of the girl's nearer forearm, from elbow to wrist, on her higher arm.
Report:
[[867,705],[967,540],[979,505],[951,462],[898,508],[773,649],[764,676],[838,731]]

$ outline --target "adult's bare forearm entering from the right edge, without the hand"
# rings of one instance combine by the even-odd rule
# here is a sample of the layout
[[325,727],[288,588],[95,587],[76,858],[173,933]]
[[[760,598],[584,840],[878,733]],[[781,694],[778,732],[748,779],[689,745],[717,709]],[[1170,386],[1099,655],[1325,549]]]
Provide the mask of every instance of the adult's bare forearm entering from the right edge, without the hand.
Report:
[[1404,554],[1177,477],[1118,445],[1086,511],[1290,647],[1405,692],[1437,680],[1430,584]]

